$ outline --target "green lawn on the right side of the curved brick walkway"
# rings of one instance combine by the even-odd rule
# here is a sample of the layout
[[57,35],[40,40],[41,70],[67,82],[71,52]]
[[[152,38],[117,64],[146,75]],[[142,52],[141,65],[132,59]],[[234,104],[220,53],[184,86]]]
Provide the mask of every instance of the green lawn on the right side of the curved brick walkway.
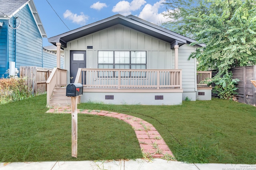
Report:
[[183,162],[255,164],[256,107],[213,98],[180,106],[79,104],[140,117]]

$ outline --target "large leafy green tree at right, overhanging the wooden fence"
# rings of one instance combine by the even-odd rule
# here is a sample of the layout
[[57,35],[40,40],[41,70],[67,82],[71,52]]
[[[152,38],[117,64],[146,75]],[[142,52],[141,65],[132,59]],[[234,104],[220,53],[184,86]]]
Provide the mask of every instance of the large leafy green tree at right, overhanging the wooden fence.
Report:
[[223,75],[232,79],[231,67],[256,64],[255,0],[167,0],[166,4],[172,21],[165,26],[206,44],[190,58],[198,60],[199,70],[218,69],[215,82],[223,81]]

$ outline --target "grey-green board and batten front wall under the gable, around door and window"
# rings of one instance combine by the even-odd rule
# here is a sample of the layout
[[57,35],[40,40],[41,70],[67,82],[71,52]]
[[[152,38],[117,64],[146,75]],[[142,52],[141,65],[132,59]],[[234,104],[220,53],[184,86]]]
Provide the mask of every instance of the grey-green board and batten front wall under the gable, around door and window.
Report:
[[[93,49],[87,49],[92,46]],[[70,67],[70,51],[86,51],[86,67],[98,68],[98,51],[146,51],[148,69],[170,69],[170,43],[124,25],[115,25],[67,43],[65,69]]]

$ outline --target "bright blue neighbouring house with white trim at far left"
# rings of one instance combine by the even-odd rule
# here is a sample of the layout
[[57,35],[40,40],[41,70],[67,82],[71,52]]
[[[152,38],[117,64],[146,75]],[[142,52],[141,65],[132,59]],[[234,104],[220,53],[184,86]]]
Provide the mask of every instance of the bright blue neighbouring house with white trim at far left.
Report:
[[10,67],[56,66],[56,55],[42,47],[43,37],[46,31],[33,0],[0,0],[0,76],[8,76]]

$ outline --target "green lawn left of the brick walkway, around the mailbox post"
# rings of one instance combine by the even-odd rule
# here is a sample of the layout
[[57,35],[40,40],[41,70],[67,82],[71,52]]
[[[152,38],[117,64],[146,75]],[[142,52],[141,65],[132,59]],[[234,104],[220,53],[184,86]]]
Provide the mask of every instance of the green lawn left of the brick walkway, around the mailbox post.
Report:
[[141,158],[124,121],[78,115],[78,158],[71,156],[71,115],[45,113],[46,95],[0,105],[0,162]]

